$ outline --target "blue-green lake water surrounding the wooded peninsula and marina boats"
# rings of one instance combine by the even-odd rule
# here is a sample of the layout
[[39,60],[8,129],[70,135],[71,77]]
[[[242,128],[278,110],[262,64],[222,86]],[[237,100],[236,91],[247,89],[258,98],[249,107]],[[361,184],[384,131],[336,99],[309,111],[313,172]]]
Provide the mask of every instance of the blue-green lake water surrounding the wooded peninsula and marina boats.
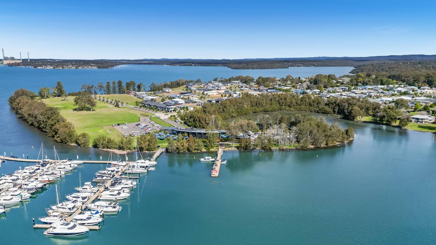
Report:
[[[119,69],[123,68],[137,69],[136,66]],[[48,155],[52,154],[52,145],[62,158],[79,155],[82,159],[89,156],[106,159],[108,155],[100,150],[54,143],[16,119],[6,99],[19,87],[36,91],[61,80],[67,84],[67,89],[77,90],[83,82],[89,83],[98,76],[102,81],[144,82],[147,80],[141,81],[138,77],[157,79],[160,72],[163,77],[173,73],[174,78],[163,80],[231,76],[220,75],[222,68],[214,71],[215,67],[188,67],[187,72],[179,75],[171,69],[184,67],[162,67],[157,73],[148,70],[156,68],[132,71],[132,78],[123,79],[110,75],[116,69],[0,67],[3,84],[0,151],[36,157],[43,140]],[[164,72],[167,68],[171,71]],[[192,68],[198,68],[197,73],[188,77]],[[199,76],[202,69],[216,73]],[[252,70],[231,71],[235,72],[232,75],[259,74]],[[86,79],[90,80],[85,81],[87,76],[81,72],[102,73],[93,78],[89,75],[91,78]],[[149,72],[153,74],[140,74]],[[222,69],[222,72],[229,71]],[[315,71],[313,74],[317,73],[334,72]],[[43,216],[44,208],[56,201],[51,184],[36,198],[0,215],[0,238],[8,243],[36,244],[126,241],[132,244],[435,244],[435,135],[350,122],[334,116],[310,115],[324,116],[327,122],[338,122],[341,127],[354,127],[355,140],[344,146],[317,150],[226,151],[224,158],[228,161],[221,167],[218,178],[210,177],[211,164],[197,160],[213,153],[164,153],[157,159],[156,170],[143,175],[132,196],[121,204],[123,210],[119,214],[105,215],[100,231],[90,231],[76,238],[51,238],[42,235],[43,230],[32,228],[31,219]],[[26,165],[12,161],[3,163],[0,174],[13,172],[19,166]],[[61,196],[72,193],[78,186],[79,172],[83,180],[90,180],[104,167],[83,164],[78,171],[57,179]]]

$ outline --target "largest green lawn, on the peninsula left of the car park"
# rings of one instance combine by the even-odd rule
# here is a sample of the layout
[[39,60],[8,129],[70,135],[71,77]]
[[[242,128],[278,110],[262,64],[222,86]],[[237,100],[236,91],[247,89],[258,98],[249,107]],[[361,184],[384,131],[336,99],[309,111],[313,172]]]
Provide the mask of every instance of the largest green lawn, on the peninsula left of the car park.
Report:
[[119,138],[121,133],[112,127],[112,124],[138,122],[139,118],[143,117],[141,114],[151,115],[130,108],[118,108],[115,105],[98,100],[96,100],[97,106],[93,108],[92,112],[76,112],[73,110],[75,108],[74,97],[67,97],[66,101],[62,101],[62,99],[61,97],[43,99],[43,102],[57,107],[61,115],[74,124],[77,133],[88,133],[90,143],[99,135]]

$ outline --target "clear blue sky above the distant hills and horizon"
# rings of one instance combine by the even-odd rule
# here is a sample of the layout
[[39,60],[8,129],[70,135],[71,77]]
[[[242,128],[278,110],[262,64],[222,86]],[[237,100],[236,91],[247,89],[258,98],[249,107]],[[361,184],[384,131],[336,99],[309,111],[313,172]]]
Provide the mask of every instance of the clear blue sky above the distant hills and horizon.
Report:
[[294,58],[436,54],[436,1],[0,0],[5,56]]

